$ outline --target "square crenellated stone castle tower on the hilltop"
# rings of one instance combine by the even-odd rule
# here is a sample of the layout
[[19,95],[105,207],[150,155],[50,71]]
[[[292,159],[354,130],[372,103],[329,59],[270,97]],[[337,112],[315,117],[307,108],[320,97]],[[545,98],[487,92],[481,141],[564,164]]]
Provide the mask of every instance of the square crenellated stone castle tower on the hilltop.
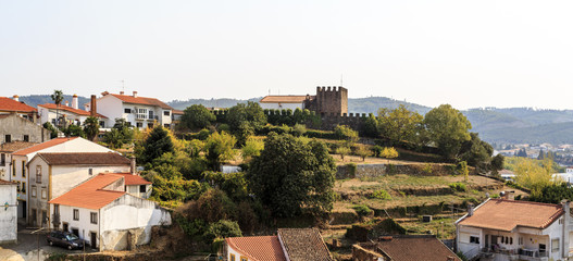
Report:
[[348,90],[339,87],[316,87],[315,111],[321,114],[348,114]]

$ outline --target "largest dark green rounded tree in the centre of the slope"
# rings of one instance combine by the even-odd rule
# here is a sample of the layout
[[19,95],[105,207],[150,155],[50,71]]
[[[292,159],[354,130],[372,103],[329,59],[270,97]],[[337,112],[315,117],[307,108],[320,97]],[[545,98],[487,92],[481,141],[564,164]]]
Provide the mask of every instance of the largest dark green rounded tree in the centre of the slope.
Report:
[[250,188],[273,215],[329,212],[336,165],[326,146],[271,133],[247,173]]

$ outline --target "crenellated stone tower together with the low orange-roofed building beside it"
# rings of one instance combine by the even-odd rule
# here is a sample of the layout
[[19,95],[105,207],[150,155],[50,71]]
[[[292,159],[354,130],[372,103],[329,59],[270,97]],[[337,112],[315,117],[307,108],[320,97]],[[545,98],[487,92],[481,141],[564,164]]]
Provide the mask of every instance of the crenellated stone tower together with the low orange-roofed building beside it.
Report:
[[315,96],[266,96],[259,101],[263,109],[314,111],[320,115],[348,114],[348,90],[339,87],[316,87]]

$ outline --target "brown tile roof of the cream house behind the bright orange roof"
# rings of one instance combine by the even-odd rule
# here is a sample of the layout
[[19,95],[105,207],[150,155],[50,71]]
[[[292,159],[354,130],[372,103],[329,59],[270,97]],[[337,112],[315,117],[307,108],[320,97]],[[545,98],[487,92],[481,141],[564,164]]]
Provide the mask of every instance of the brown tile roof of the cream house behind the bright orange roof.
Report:
[[129,165],[129,159],[115,152],[40,152],[50,165]]

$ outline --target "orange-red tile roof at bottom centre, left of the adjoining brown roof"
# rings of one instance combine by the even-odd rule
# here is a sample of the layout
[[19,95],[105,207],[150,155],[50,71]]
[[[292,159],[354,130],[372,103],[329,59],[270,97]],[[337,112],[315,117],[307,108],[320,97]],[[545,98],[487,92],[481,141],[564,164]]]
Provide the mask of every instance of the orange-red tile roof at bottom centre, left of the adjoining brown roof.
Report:
[[225,241],[252,261],[286,261],[277,236],[227,237]]

